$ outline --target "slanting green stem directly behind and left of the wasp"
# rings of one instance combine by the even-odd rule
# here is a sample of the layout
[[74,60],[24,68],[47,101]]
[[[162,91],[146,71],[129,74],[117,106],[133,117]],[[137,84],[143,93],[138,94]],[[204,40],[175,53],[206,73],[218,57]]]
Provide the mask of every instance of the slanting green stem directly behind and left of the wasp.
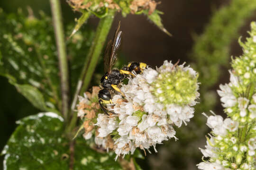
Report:
[[87,90],[88,85],[91,82],[91,77],[94,72],[94,69],[97,65],[98,59],[101,56],[102,48],[105,44],[107,36],[109,34],[112,22],[114,20],[115,11],[109,11],[107,17],[104,17],[100,20],[99,25],[96,30],[95,38],[93,40],[90,51],[86,57],[86,61],[82,68],[81,75],[78,79],[78,83],[76,86],[76,92],[74,94],[74,98],[72,101],[71,111],[72,111],[72,119],[70,125],[67,127],[66,132],[70,132],[72,128],[76,124],[77,114],[75,111],[75,105],[78,100],[78,95],[82,95],[82,93]]

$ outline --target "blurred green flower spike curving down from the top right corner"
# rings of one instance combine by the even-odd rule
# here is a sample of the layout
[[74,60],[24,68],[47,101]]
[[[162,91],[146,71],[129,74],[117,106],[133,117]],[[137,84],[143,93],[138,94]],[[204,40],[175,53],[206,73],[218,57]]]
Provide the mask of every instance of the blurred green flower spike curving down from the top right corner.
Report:
[[199,113],[215,106],[216,92],[210,88],[219,81],[220,68],[228,67],[230,44],[238,38],[239,28],[255,10],[255,0],[232,0],[228,6],[216,11],[204,33],[195,37],[192,58],[195,59],[193,66],[200,74],[201,104],[196,107]]

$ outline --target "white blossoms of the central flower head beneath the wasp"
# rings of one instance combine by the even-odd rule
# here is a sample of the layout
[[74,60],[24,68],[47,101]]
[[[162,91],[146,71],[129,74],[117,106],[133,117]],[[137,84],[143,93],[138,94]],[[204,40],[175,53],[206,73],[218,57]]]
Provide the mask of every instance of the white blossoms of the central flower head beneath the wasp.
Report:
[[[177,104],[157,98],[155,93],[165,93],[166,98],[173,95],[166,92],[166,88],[163,88],[162,84],[157,84],[157,81],[161,76],[169,73],[174,73],[175,76],[177,70],[187,73],[189,80],[197,78],[197,73],[192,68],[184,67],[184,64],[176,66],[168,61],[156,70],[146,68],[142,74],[130,77],[128,84],[122,84],[120,88],[125,96],[114,95],[113,104],[108,105],[108,109],[114,111],[116,115],[99,114],[96,125],[100,128],[99,135],[96,137],[115,134],[113,149],[117,156],[133,154],[137,147],[144,151],[150,146],[155,148],[155,144],[161,144],[172,137],[176,140],[173,125],[180,127],[183,122],[186,124],[190,121],[194,113],[192,106],[196,104],[195,99],[199,96],[197,92],[199,87],[195,81],[193,95],[189,95],[190,98],[187,97],[189,102],[180,104],[183,102],[180,100]],[[172,77],[169,77],[165,80],[165,84],[168,85],[172,81]],[[175,90],[175,86],[170,88],[167,90],[172,90],[171,92]],[[178,88],[181,89],[182,85],[177,84],[176,89]]]

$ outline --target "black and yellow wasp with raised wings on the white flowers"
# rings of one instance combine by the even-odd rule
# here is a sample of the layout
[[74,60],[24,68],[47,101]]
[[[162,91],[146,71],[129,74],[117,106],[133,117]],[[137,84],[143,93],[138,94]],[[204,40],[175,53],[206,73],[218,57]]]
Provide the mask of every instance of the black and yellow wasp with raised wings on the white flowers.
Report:
[[[101,78],[101,88],[102,90],[98,93],[99,103],[101,109],[106,113],[113,113],[113,111],[108,110],[104,104],[110,104],[112,102],[112,93],[117,91],[123,95],[120,91],[118,85],[123,79],[127,78],[129,75],[135,76],[132,72],[135,71],[136,74],[140,74],[146,68],[145,63],[130,62],[127,66],[122,69],[112,69],[117,60],[117,51],[121,44],[120,22],[116,29],[115,35],[112,40],[107,44],[104,56],[104,71],[106,72]],[[124,96],[124,95],[123,95]]]

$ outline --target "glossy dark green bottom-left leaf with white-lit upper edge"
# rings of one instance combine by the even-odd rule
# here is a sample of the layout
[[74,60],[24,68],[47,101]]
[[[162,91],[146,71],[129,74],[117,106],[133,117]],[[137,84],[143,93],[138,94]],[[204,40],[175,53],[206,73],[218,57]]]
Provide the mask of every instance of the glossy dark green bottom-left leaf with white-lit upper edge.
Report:
[[[68,170],[71,153],[63,136],[63,118],[52,112],[19,120],[2,154],[6,170]],[[114,154],[97,153],[79,138],[74,145],[73,170],[120,170]]]

